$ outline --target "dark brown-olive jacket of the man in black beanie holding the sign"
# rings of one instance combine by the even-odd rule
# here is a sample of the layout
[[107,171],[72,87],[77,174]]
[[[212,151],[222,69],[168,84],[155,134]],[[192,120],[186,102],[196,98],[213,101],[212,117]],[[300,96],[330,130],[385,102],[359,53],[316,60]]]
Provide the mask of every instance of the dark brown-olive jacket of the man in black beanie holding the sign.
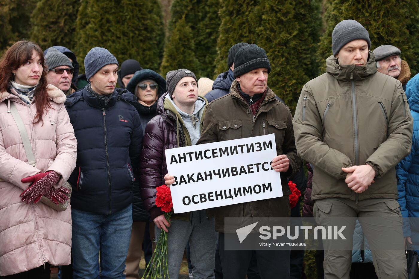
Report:
[[221,233],[226,233],[225,217],[290,217],[287,177],[300,171],[302,165],[295,148],[290,109],[278,101],[268,87],[264,101],[253,117],[250,106],[240,96],[237,87],[238,82],[234,80],[230,94],[208,104],[203,132],[197,144],[274,134],[277,155],[287,155],[290,168],[281,174],[285,196],[215,208],[215,230]]

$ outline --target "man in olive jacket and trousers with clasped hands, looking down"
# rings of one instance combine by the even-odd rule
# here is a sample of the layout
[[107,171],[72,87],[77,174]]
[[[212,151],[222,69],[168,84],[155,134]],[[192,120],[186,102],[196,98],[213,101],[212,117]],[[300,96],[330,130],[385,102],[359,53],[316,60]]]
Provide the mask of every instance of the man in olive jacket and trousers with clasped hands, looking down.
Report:
[[[360,224],[371,248],[380,245],[378,236],[402,246],[394,167],[409,154],[412,119],[400,81],[377,72],[370,45],[368,31],[357,21],[335,26],[326,73],[301,92],[295,143],[301,158],[314,166],[311,198],[321,224],[329,217],[347,218],[351,231],[356,217],[393,218],[397,225],[377,228],[365,219]],[[407,278],[403,249],[371,250],[379,278]],[[351,250],[324,252],[324,278],[349,279]]]

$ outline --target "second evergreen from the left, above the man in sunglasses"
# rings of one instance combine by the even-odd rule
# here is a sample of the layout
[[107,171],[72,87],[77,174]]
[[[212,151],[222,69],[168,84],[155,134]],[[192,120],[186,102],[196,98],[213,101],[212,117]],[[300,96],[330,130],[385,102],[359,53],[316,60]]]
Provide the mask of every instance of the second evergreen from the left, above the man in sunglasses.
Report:
[[31,16],[31,39],[42,49],[65,46],[72,50],[80,0],[41,0]]

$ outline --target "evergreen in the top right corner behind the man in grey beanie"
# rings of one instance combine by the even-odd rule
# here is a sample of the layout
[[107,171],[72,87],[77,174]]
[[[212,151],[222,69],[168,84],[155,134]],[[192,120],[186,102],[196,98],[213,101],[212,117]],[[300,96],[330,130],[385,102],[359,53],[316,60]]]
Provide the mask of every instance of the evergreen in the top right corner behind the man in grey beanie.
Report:
[[409,64],[412,74],[419,67],[419,3],[417,0],[327,0],[326,32],[321,37],[318,59],[321,72],[332,55],[332,31],[344,19],[361,23],[370,34],[371,50],[391,44],[401,50],[401,58]]

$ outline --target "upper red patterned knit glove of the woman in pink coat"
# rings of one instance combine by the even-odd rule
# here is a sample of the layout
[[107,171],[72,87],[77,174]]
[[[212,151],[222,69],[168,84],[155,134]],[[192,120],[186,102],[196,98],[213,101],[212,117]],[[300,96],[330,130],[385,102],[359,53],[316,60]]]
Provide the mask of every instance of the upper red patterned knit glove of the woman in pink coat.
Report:
[[22,202],[28,204],[33,201],[36,204],[51,189],[52,185],[57,184],[58,180],[59,176],[55,171],[38,173],[34,176],[22,178],[22,183],[32,182],[31,186],[19,195],[22,198]]

